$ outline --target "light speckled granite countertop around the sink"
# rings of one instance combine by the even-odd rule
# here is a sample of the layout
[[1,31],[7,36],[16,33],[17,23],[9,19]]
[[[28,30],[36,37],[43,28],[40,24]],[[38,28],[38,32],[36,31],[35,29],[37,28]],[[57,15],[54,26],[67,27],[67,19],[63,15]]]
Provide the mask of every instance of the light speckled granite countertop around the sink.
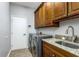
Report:
[[67,43],[72,43],[72,44],[75,44],[75,45],[78,45],[78,43],[73,43],[73,42],[69,42],[69,41],[66,41],[66,40],[62,40],[62,39],[56,39],[56,38],[48,38],[48,39],[42,39],[43,41],[51,44],[51,45],[54,45],[54,46],[57,46],[65,51],[68,51],[74,55],[77,55],[79,56],[79,49],[73,49],[73,48],[69,48],[69,47],[66,47],[66,46],[63,46],[63,45],[60,45],[60,44],[57,44],[56,41],[65,41]]

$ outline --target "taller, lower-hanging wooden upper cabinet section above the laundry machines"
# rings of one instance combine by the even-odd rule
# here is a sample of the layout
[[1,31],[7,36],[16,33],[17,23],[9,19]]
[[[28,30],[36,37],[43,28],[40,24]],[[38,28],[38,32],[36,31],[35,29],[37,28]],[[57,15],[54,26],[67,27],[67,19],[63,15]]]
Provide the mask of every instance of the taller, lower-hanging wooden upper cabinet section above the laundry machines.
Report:
[[[49,3],[43,3],[42,6],[37,10],[39,11],[39,26],[37,26],[38,28],[40,27],[58,27],[59,23],[54,23],[53,19],[54,19],[54,12],[53,12],[53,3],[49,2]],[[37,11],[35,12],[35,14],[37,13]],[[36,16],[36,15],[35,15]],[[36,18],[35,18],[36,19]],[[37,24],[37,23],[36,23]]]

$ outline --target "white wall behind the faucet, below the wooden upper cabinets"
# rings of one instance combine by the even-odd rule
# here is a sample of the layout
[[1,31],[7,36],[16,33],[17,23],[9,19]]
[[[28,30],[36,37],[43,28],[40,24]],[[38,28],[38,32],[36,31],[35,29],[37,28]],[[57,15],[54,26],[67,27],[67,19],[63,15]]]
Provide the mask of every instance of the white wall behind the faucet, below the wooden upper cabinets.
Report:
[[[69,25],[74,27],[75,35],[77,35],[79,37],[79,18],[62,21],[62,22],[60,22],[60,26],[58,28],[57,27],[41,28],[37,31],[39,31],[39,32],[41,31],[45,34],[51,34],[51,35],[55,35],[55,34],[63,35],[63,34],[65,34],[65,31]],[[68,35],[71,35],[71,29],[69,30]]]

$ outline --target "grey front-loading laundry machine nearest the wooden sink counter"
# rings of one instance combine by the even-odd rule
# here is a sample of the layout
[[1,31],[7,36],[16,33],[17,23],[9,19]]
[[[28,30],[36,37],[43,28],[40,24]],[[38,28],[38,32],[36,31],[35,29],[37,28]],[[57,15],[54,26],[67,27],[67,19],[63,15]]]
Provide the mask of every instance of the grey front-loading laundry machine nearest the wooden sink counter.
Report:
[[52,35],[33,35],[32,37],[32,56],[41,57],[42,56],[42,39],[52,38]]

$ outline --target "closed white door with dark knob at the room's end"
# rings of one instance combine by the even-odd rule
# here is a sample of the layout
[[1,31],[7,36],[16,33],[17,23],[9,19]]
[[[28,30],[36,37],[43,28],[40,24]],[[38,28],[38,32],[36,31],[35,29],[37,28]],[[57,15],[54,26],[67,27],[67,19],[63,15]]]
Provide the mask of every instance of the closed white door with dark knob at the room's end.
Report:
[[27,31],[27,19],[12,17],[11,25],[11,45],[12,50],[27,48],[28,43],[28,31]]

